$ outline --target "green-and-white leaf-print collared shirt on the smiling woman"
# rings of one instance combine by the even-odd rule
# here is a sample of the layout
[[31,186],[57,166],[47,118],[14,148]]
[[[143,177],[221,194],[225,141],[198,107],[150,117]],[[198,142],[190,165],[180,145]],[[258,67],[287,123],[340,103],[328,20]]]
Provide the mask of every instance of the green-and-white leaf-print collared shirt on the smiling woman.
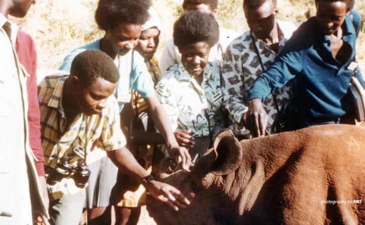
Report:
[[173,130],[191,130],[193,136],[201,137],[208,136],[210,131],[215,135],[223,128],[220,86],[220,71],[216,63],[210,62],[204,68],[201,85],[179,63],[171,66],[160,78],[156,94]]

